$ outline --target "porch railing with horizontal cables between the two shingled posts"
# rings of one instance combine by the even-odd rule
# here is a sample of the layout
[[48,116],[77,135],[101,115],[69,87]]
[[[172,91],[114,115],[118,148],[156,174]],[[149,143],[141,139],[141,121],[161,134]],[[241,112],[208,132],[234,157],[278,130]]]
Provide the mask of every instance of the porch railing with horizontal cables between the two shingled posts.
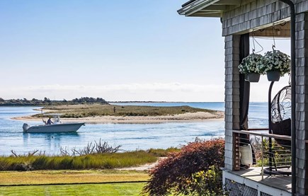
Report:
[[[268,129],[233,131],[234,171],[258,167],[262,180],[265,174],[291,175],[291,137],[267,132]],[[241,146],[249,145],[254,155],[252,166],[241,163]]]

